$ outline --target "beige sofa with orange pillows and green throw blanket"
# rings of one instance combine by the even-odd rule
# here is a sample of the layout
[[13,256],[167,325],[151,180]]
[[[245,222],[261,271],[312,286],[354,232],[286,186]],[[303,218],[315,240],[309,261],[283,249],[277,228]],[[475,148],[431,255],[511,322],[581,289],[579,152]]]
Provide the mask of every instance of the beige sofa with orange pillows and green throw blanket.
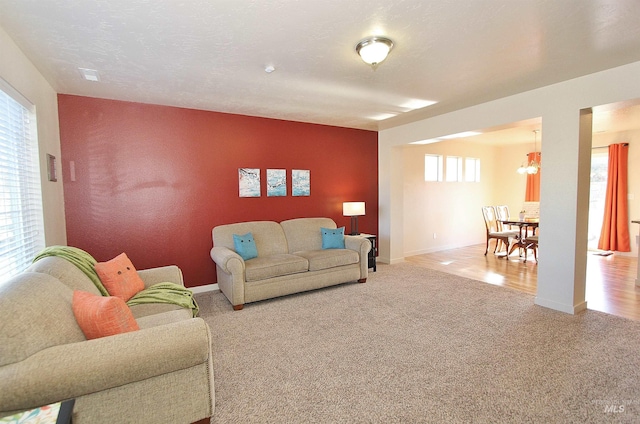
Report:
[[[146,287],[183,285],[176,266],[139,275]],[[100,294],[60,257],[0,284],[0,416],[69,399],[75,424],[191,423],[213,415],[211,336],[201,318],[176,305],[136,305],[140,330],[86,340],[71,308],[73,290]]]

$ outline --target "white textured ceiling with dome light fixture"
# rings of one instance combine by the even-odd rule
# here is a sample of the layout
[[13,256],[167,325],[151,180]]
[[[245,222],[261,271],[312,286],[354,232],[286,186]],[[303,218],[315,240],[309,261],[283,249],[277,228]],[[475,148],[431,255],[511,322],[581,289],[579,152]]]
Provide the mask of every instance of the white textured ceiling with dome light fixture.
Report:
[[[638,0],[0,0],[59,93],[370,130],[638,61],[638,22]],[[395,42],[375,71],[370,35]]]

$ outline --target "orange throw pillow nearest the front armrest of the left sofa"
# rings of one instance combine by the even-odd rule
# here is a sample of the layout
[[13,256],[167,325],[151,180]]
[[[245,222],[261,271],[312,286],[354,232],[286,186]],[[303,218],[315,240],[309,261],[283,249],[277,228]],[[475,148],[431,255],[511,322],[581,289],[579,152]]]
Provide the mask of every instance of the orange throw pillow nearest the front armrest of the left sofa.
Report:
[[87,340],[140,329],[131,309],[119,297],[75,290],[71,307]]

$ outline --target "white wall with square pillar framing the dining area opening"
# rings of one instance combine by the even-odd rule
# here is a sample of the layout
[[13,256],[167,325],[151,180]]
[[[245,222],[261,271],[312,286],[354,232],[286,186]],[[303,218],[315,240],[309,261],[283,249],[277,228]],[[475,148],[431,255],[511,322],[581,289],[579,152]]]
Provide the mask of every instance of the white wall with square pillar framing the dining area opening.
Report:
[[590,115],[581,111],[640,98],[638,75],[640,62],[635,62],[381,131],[380,260],[393,263],[402,261],[405,255],[402,146],[541,117],[544,169],[540,219],[545,234],[554,237],[540,239],[536,303],[569,313],[586,308],[591,121]]

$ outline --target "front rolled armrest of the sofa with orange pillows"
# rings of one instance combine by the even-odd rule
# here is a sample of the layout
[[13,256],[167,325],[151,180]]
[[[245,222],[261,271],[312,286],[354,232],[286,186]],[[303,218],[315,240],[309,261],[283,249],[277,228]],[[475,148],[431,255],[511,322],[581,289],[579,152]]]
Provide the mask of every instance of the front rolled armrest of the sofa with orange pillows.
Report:
[[183,370],[209,360],[201,318],[53,346],[0,367],[0,411],[35,408]]

